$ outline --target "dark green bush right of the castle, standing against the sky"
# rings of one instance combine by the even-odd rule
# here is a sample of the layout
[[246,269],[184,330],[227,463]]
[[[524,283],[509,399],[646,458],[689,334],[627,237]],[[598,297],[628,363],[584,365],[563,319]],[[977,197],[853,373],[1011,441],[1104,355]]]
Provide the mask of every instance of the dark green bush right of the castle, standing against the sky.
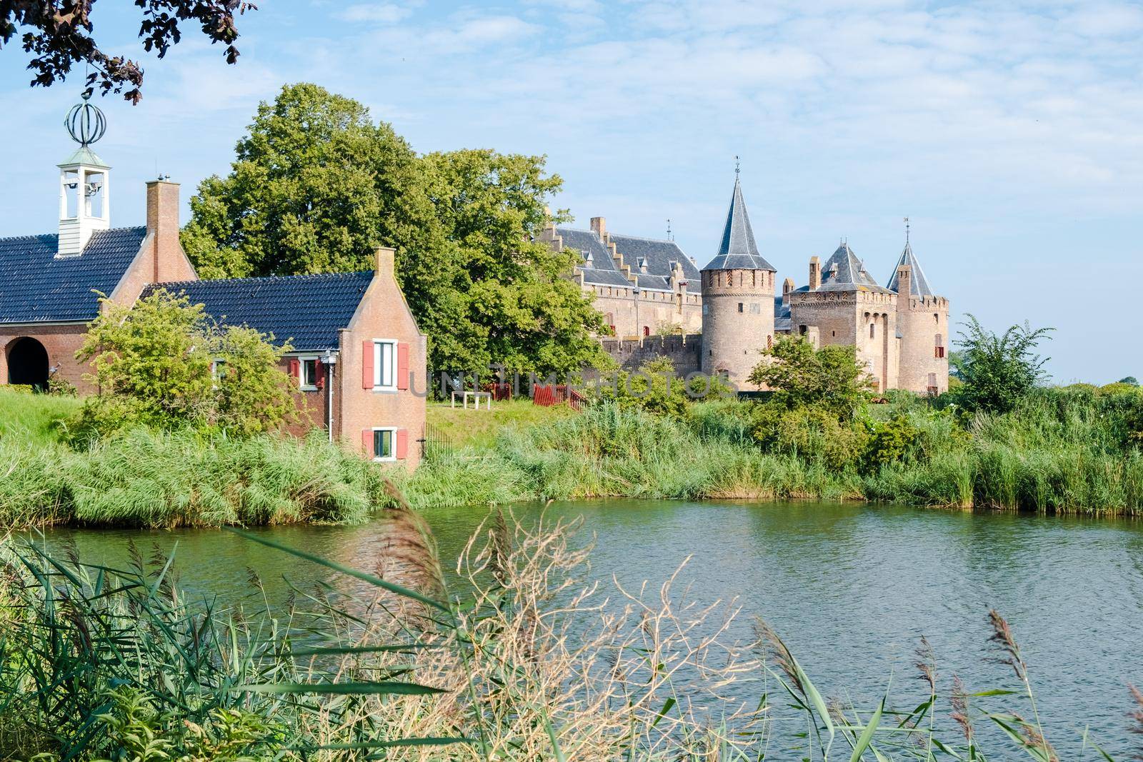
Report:
[[1036,348],[1054,329],[1032,330],[1025,322],[997,335],[974,315],[968,315],[965,328],[957,340],[964,382],[956,390],[957,401],[968,410],[1008,412],[1044,379],[1047,358]]

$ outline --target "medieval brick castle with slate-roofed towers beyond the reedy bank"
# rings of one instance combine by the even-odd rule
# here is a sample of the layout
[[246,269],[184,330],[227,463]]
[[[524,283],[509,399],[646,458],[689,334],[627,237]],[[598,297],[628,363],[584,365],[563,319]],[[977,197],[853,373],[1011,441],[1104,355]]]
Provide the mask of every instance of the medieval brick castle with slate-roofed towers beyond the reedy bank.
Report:
[[666,355],[680,374],[721,374],[750,390],[759,353],[797,334],[815,346],[855,347],[878,392],[949,388],[949,300],[929,286],[908,235],[887,286],[842,241],[825,264],[809,258],[806,286],[786,278],[778,295],[736,175],[718,252],[702,271],[674,241],[616,235],[602,217],[590,231],[549,225],[539,240],[580,252],[575,276],[612,327],[616,338],[604,345],[624,367]]

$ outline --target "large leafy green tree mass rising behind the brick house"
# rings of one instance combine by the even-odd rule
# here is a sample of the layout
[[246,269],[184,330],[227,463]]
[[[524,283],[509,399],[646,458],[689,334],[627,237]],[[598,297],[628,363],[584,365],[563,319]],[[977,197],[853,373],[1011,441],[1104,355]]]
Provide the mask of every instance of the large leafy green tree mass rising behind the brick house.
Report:
[[419,157],[360,103],[306,83],[259,105],[237,154],[191,199],[183,246],[202,276],[368,270],[392,246],[433,368],[606,362],[574,255],[533,240],[560,187],[542,157]]

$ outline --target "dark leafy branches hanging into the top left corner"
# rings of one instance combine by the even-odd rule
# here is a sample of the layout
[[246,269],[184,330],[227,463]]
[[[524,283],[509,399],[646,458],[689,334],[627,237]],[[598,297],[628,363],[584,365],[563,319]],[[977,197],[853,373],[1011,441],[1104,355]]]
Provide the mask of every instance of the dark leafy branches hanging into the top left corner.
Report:
[[[226,63],[238,61],[235,14],[255,8],[247,0],[135,0],[139,8],[139,38],[144,50],[167,55],[182,39],[179,24],[198,24],[211,43],[225,46]],[[48,87],[63,81],[72,65],[86,64],[87,87],[104,93],[122,93],[131,103],[142,97],[143,70],[123,56],[112,56],[95,41],[91,11],[95,0],[0,0],[0,48],[24,29],[21,42],[32,54],[27,67],[34,72],[32,86]]]

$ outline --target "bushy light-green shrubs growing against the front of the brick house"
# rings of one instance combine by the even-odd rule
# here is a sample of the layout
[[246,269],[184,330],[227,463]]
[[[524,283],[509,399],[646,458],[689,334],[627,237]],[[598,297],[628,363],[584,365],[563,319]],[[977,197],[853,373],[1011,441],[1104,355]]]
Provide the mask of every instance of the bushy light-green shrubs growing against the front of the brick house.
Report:
[[202,305],[163,290],[127,307],[109,299],[77,353],[96,386],[80,411],[79,436],[131,425],[192,426],[248,435],[295,411],[293,384],[275,347],[249,328],[215,326]]

